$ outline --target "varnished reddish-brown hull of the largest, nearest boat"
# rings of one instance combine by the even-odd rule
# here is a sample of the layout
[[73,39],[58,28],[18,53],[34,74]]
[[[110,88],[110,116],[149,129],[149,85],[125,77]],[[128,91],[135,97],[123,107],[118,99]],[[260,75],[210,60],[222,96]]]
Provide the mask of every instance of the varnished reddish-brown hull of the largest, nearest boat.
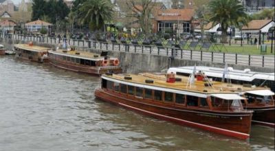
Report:
[[248,139],[250,137],[252,113],[219,113],[188,108],[173,108],[153,104],[136,97],[126,97],[104,89],[97,89],[96,97],[131,110],[151,115],[177,124],[201,128],[221,135]]

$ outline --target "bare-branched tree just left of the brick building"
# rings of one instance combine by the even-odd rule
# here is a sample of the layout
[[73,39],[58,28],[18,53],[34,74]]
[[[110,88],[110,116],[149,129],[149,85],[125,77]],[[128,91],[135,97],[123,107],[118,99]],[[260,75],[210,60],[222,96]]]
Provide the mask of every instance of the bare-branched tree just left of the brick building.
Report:
[[139,21],[140,27],[144,34],[150,33],[151,30],[151,12],[156,0],[130,0],[127,1],[129,9],[133,11],[134,17]]

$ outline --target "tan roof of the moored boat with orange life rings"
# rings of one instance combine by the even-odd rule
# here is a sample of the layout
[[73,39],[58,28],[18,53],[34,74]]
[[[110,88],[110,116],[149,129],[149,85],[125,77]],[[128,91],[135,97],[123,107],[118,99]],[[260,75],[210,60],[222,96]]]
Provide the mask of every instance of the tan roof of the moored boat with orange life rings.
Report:
[[[80,58],[85,60],[95,60],[95,61],[104,60],[104,56],[100,56],[100,54],[86,52],[86,51],[56,49],[56,50],[50,50],[49,53],[58,54],[61,56]],[[110,58],[110,59],[116,59],[116,58]]]

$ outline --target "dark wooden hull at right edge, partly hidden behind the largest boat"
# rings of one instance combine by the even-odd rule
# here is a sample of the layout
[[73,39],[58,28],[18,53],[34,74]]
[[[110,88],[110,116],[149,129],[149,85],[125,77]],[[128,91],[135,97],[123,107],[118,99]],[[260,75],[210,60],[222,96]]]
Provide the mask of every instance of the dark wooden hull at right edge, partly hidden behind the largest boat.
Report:
[[275,128],[275,108],[274,106],[259,107],[259,108],[247,108],[254,111],[252,121],[255,124],[261,124],[264,126],[270,126]]

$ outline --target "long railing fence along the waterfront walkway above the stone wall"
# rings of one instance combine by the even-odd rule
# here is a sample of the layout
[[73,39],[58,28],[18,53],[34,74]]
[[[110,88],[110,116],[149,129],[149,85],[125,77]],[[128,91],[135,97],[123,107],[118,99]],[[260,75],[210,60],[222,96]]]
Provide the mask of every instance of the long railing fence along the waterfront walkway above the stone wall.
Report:
[[[2,35],[1,35],[2,36]],[[37,43],[47,43],[58,45],[63,43],[60,38],[52,38],[47,36],[27,36],[21,34],[12,34],[9,36],[14,40],[21,41],[35,41]],[[184,60],[198,60],[206,62],[216,62],[235,64],[235,65],[248,65],[253,67],[267,67],[274,68],[273,55],[247,55],[247,54],[232,54],[214,51],[197,51],[178,49],[175,47],[159,47],[153,45],[133,45],[111,42],[100,42],[94,40],[76,40],[68,39],[67,43],[71,46],[80,47],[89,51],[90,49],[100,49],[103,51],[126,51],[138,54],[153,54],[160,56],[173,56],[174,58]]]

